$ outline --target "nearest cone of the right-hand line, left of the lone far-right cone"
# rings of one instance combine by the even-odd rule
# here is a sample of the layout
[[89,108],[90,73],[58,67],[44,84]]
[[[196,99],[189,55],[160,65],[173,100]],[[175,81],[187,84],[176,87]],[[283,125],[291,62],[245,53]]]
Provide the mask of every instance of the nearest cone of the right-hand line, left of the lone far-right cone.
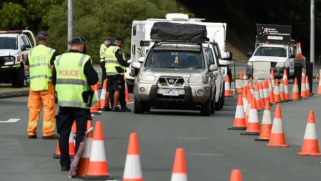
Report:
[[282,125],[282,113],[281,113],[281,105],[278,104],[275,110],[271,136],[269,144],[266,144],[268,147],[288,147],[285,143],[285,136],[283,132]]

